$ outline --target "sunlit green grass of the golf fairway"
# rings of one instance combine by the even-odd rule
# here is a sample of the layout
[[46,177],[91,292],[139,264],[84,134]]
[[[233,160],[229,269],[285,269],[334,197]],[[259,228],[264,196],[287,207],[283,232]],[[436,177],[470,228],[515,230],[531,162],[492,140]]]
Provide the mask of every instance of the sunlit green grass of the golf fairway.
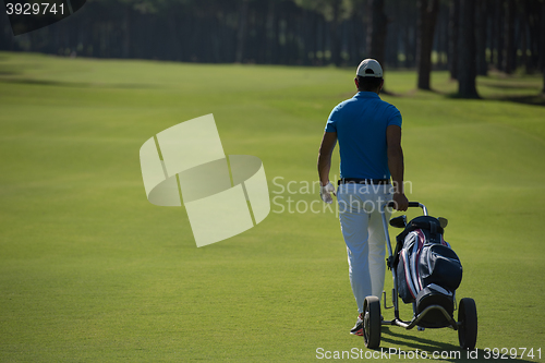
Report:
[[[413,72],[386,76],[410,198],[450,221],[481,359],[487,347],[545,353],[541,77],[479,78],[484,99],[463,100],[445,72],[435,92],[415,92]],[[364,349],[348,334],[356,310],[335,214],[272,205],[256,228],[197,249],[183,208],[147,202],[138,160],[153,135],[214,113],[227,154],[263,160],[271,197],[300,189],[352,78],[0,53],[0,361],[312,362],[317,348]],[[391,327],[382,347],[456,351],[458,338]]]

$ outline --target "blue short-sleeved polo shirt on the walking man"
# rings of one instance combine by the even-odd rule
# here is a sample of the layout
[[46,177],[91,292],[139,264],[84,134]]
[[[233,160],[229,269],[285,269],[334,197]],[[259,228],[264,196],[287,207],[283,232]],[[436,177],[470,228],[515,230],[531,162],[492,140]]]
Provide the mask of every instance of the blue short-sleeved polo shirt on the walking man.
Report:
[[401,113],[374,92],[359,92],[334,108],[326,132],[337,132],[341,178],[390,179],[386,149],[389,125],[401,128]]

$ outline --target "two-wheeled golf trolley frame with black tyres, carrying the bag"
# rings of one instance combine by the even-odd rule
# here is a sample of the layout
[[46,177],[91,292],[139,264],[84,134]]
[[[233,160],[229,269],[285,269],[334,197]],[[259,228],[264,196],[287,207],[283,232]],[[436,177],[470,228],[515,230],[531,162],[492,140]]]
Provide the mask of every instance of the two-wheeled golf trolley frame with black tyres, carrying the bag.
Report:
[[[477,336],[477,314],[476,314],[476,306],[475,306],[475,301],[471,298],[464,298],[460,301],[458,304],[458,322],[455,320],[453,318],[453,311],[456,310],[456,295],[455,291],[450,292],[445,289],[441,290],[440,287],[434,288],[433,286],[432,289],[427,289],[424,287],[422,289],[421,287],[421,292],[419,293],[419,300],[417,302],[420,303],[419,306],[416,306],[416,302],[413,302],[413,311],[414,315],[411,320],[407,322],[400,318],[399,316],[399,297],[398,293],[400,286],[398,285],[399,278],[398,278],[398,266],[396,265],[395,261],[399,261],[399,258],[396,258],[398,254],[400,254],[400,242],[399,242],[399,237],[398,237],[398,243],[396,245],[396,252],[392,251],[391,243],[390,243],[390,238],[388,234],[388,223],[386,220],[386,215],[384,213],[384,209],[386,207],[393,207],[393,203],[390,202],[388,204],[385,204],[380,207],[380,213],[383,216],[383,225],[384,225],[384,231],[386,235],[386,242],[388,246],[388,253],[389,257],[387,259],[388,262],[388,267],[392,271],[393,276],[393,289],[392,289],[392,302],[393,306],[386,306],[386,291],[383,292],[384,295],[384,307],[385,308],[392,308],[393,307],[393,313],[395,313],[395,318],[392,320],[384,320],[380,315],[380,301],[377,297],[367,297],[365,298],[364,304],[363,304],[363,338],[365,341],[365,347],[370,349],[377,349],[380,344],[380,327],[383,325],[385,326],[399,326],[405,329],[412,329],[415,326],[419,328],[445,328],[449,327],[452,328],[453,330],[458,330],[458,338],[460,341],[460,347],[461,349],[464,350],[471,350],[475,348],[476,343],[476,336]],[[445,218],[438,218],[435,219],[433,217],[428,217],[427,214],[427,208],[417,202],[410,202],[409,207],[420,207],[423,210],[424,216],[426,217],[416,217],[415,219],[411,220],[411,222],[407,222],[407,217],[399,216],[396,218],[392,218],[390,220],[390,225],[396,228],[404,228],[405,231],[410,228],[409,225],[415,226],[415,220],[420,218],[420,220],[424,219],[426,221],[432,221],[432,223],[439,225],[440,227],[433,227],[433,229],[439,229],[441,231],[440,234],[440,240],[443,240],[443,229],[447,226],[448,221]],[[401,233],[403,234],[403,233]],[[400,234],[400,235],[401,235]],[[403,237],[407,235],[403,234]],[[426,241],[427,243],[428,241]],[[432,242],[433,243],[433,242]],[[445,242],[444,242],[445,243]],[[448,249],[450,250],[450,249]],[[419,252],[420,254],[420,252]],[[452,252],[453,256],[456,254]],[[417,255],[416,257],[421,257]],[[456,256],[458,259],[458,257]],[[459,263],[459,259],[458,259]],[[460,265],[460,281],[461,281],[461,265]],[[402,281],[403,283],[405,281]],[[434,290],[435,289],[435,290]],[[427,290],[427,291],[424,291]],[[421,297],[422,295],[422,297]]]

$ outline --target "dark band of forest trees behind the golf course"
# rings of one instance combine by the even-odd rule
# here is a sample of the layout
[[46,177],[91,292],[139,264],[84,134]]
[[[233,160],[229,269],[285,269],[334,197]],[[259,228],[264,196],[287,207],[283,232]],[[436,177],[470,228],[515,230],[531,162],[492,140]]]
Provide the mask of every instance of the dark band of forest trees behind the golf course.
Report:
[[432,68],[459,81],[545,68],[545,0],[87,0],[17,37],[0,21],[0,50],[299,65],[372,57],[417,69],[424,89]]

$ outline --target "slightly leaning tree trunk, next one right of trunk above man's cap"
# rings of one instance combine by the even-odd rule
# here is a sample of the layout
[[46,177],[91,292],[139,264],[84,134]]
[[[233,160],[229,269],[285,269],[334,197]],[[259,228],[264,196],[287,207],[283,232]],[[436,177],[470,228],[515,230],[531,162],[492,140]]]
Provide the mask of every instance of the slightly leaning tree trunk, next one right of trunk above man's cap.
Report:
[[434,43],[435,24],[439,12],[439,0],[419,0],[420,21],[416,48],[416,64],[419,68],[420,89],[431,89],[429,75],[432,73],[432,48]]

